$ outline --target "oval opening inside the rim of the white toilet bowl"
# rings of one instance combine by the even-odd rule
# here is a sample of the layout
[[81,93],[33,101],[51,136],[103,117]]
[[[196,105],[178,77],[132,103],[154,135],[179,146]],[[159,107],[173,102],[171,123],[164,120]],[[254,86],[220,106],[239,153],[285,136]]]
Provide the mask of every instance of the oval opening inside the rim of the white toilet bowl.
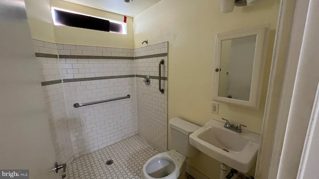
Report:
[[150,177],[160,179],[175,171],[175,165],[167,158],[160,157],[152,160],[146,167],[146,172]]

